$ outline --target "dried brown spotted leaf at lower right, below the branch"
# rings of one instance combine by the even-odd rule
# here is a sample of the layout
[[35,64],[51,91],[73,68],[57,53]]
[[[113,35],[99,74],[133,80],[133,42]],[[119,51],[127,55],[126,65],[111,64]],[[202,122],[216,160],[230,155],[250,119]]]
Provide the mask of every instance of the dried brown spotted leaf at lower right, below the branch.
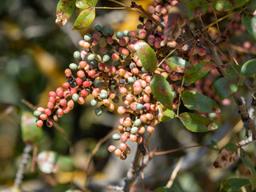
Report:
[[211,165],[212,169],[227,168],[238,158],[238,146],[229,142]]

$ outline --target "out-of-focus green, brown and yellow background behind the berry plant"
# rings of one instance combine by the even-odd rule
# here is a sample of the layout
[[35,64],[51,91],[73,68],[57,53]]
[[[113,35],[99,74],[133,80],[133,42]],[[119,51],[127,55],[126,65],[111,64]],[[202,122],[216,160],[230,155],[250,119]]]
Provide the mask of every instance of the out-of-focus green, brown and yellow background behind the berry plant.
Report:
[[[130,6],[130,1],[122,2]],[[136,2],[143,7],[151,3]],[[20,130],[21,111],[32,110],[22,99],[34,106],[46,106],[49,91],[66,82],[64,70],[70,62],[76,62],[73,53],[79,50],[78,41],[84,34],[93,30],[96,23],[110,26],[115,31],[136,30],[138,23],[136,12],[101,9],[96,10],[96,18],[88,29],[74,31],[71,29],[75,15],[66,26],[59,27],[55,24],[57,4],[57,0],[0,0],[0,190],[13,185],[25,147]],[[97,5],[117,6],[114,2],[106,0],[98,1]],[[208,19],[209,23],[214,21],[212,15]],[[239,24],[238,21],[235,24]],[[226,29],[227,24],[228,22],[222,22],[222,31]],[[229,32],[234,37],[230,42],[244,49],[244,52],[234,54],[243,63],[255,57],[256,49],[254,40],[238,24],[240,33],[238,30]],[[216,28],[213,27],[212,30]],[[208,78],[212,77],[209,75]],[[241,92],[245,98],[250,99],[250,94],[245,90],[242,89]],[[172,186],[175,191],[216,191],[223,177],[246,178],[250,175],[249,170],[239,161],[230,166],[225,176],[225,170],[210,169],[219,149],[227,142],[243,139],[245,135],[236,106],[225,106],[221,101],[219,104],[222,108],[222,118],[216,119],[220,120],[220,128],[212,133],[193,134],[175,119],[158,126],[150,141],[150,150],[171,150],[197,144],[209,144],[210,148],[199,147],[154,157],[146,166],[146,189],[150,191],[158,186],[165,186],[181,157],[182,167]],[[74,180],[78,186],[83,186],[86,178],[83,170],[88,165],[94,146],[117,127],[118,117],[110,113],[97,117],[94,115],[94,107],[86,103],[85,106],[75,106],[58,125],[66,131],[74,145],[72,158],[77,168]],[[43,139],[38,144],[39,152],[56,150],[59,154],[69,154],[69,146],[62,134],[54,128],[43,130]],[[126,161],[121,161],[107,150],[113,143],[112,139],[108,139],[93,158],[87,175],[91,191],[107,191],[106,186],[123,185],[123,178],[134,156],[135,144],[130,144],[133,154],[130,154]],[[254,148],[247,146],[246,151],[251,153],[252,160],[255,160]],[[71,178],[70,174],[63,173],[55,175],[53,179],[52,175],[42,174],[38,169],[31,173],[28,166],[22,188],[24,191],[64,191],[72,188]],[[142,191],[141,186],[142,180],[139,176],[133,191]]]

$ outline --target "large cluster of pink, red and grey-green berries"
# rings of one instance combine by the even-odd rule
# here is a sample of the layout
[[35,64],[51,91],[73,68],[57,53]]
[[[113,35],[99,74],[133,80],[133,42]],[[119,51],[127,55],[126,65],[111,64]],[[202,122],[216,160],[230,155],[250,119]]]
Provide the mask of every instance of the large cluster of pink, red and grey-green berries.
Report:
[[[168,10],[178,1],[155,0],[153,6],[149,6],[148,12],[160,23],[166,24]],[[137,26],[138,30],[118,31],[114,37],[114,31],[102,26],[94,26],[93,34],[84,35],[79,41],[81,51],[74,52],[77,63],[71,63],[65,70],[67,81],[55,91],[50,91],[47,107],[38,107],[34,115],[38,117],[37,126],[53,126],[53,121],[68,113],[74,108],[74,102],[83,105],[86,97],[91,94],[94,98],[90,101],[91,106],[97,106],[94,110],[96,115],[101,115],[104,110],[117,111],[123,117],[119,119],[118,130],[120,134],[114,134],[113,139],[121,141],[116,147],[110,145],[108,150],[121,159],[126,159],[130,154],[130,147],[126,141],[142,143],[145,139],[143,134],[147,131],[154,132],[158,124],[162,104],[158,102],[151,92],[150,81],[153,74],[162,74],[173,90],[173,110],[177,110],[178,94],[182,94],[184,87],[181,80],[184,71],[170,69],[166,62],[158,66],[154,73],[144,69],[138,54],[136,43],[146,42],[156,53],[158,63],[170,54],[178,45],[176,41],[166,41],[162,33],[162,27],[150,19]],[[181,38],[179,38],[181,39]],[[179,40],[178,39],[178,40]],[[165,41],[163,41],[165,40]],[[197,45],[192,49],[178,49],[180,57],[189,60],[193,65],[198,62],[209,62],[210,55],[203,46]],[[193,53],[192,53],[193,50]],[[119,103],[122,98],[122,104]],[[121,99],[120,99],[121,100]],[[115,105],[118,104],[118,105]]]

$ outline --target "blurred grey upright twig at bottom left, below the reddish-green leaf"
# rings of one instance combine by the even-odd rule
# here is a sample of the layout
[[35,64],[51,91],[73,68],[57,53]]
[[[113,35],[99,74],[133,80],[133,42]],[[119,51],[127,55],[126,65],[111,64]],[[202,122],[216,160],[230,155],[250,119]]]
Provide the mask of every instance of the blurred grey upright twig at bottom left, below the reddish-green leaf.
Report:
[[33,147],[29,143],[26,143],[26,146],[25,146],[25,148],[23,150],[23,154],[22,154],[22,162],[20,163],[20,165],[18,167],[18,172],[16,174],[15,181],[14,181],[15,188],[20,189],[20,187],[22,185],[22,178],[25,173],[26,165],[29,162],[30,151],[32,149],[33,149]]

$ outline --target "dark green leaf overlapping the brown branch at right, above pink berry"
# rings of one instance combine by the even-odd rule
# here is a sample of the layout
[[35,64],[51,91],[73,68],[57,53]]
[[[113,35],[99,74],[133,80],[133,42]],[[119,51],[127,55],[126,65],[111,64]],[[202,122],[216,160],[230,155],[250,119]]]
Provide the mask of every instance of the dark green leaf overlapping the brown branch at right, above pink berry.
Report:
[[217,82],[214,82],[213,87],[221,98],[226,98],[238,90],[238,77],[228,76],[219,78]]

